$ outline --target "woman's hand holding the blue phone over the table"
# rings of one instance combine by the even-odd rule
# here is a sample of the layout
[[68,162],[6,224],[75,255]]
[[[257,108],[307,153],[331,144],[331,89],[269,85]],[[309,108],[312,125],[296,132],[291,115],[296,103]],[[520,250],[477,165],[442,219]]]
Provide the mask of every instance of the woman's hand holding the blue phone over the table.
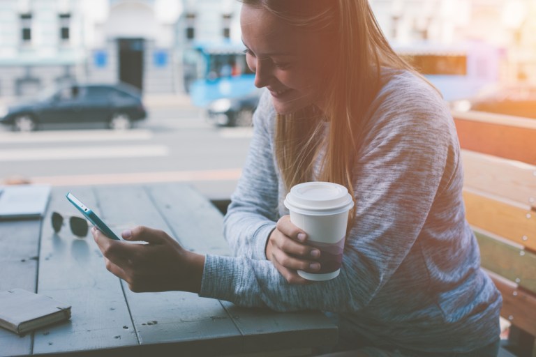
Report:
[[126,241],[145,244],[115,241],[95,227],[91,234],[108,271],[125,280],[132,291],[200,291],[204,256],[185,250],[165,231],[138,226],[121,234]]

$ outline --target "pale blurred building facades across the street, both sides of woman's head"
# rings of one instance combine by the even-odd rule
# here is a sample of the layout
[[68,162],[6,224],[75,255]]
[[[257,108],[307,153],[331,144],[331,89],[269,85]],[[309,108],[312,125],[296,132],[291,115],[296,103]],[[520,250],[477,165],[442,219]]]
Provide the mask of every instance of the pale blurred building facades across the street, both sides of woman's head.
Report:
[[[536,0],[370,0],[398,45],[486,41],[507,79],[536,81]],[[2,0],[0,97],[74,79],[177,93],[195,40],[239,40],[236,0]]]

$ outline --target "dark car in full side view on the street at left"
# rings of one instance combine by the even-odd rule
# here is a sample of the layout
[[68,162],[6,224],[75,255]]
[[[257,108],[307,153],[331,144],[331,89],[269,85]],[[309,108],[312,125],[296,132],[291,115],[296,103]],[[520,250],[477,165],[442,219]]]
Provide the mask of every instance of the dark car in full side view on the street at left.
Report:
[[47,89],[35,100],[0,113],[0,123],[32,131],[48,123],[105,123],[124,130],[147,116],[137,89],[126,84],[70,84]]

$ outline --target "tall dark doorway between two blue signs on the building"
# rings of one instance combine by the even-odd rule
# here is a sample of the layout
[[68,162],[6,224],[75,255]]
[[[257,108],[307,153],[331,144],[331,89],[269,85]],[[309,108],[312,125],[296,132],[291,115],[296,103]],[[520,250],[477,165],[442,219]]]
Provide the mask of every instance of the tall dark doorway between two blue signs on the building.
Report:
[[143,89],[143,38],[120,38],[119,81]]

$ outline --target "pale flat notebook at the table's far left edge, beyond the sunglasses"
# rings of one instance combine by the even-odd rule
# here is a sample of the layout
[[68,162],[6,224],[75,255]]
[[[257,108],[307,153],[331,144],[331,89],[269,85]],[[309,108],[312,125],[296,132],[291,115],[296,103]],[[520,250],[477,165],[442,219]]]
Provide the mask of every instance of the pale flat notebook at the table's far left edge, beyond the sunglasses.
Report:
[[50,191],[48,185],[0,185],[0,219],[43,217]]

